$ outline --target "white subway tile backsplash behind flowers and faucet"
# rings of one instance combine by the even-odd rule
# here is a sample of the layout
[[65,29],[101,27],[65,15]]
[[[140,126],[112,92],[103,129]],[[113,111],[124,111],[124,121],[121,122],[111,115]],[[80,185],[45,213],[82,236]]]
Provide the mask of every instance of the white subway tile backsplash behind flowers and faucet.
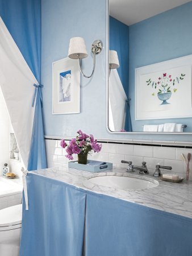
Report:
[[[161,142],[158,143],[162,144]],[[68,164],[69,160],[65,158],[65,149],[60,147],[59,140],[47,139],[45,140],[45,145],[48,167],[61,167]],[[141,166],[144,161],[147,162],[150,174],[154,173],[156,164],[172,166],[172,171],[161,169],[161,172],[172,172],[186,177],[186,164],[182,161],[181,154],[185,154],[187,159],[188,152],[192,155],[192,148],[102,143],[101,152],[91,152],[88,155],[88,159],[111,162],[114,168],[127,168],[127,164],[122,164],[121,160],[132,161],[132,164],[136,166]],[[73,155],[73,158],[77,160],[77,155]],[[192,160],[190,162],[190,179],[192,180]],[[0,201],[0,204],[2,203]]]

